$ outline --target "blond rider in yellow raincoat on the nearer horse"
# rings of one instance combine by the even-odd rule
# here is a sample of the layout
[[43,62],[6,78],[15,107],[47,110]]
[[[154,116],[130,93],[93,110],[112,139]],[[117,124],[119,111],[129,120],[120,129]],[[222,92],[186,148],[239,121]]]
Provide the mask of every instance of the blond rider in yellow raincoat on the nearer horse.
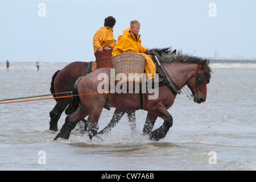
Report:
[[[155,77],[156,66],[151,57],[147,55],[149,49],[141,46],[141,35],[139,35],[139,29],[141,24],[137,20],[130,22],[130,28],[123,31],[123,35],[120,35],[117,40],[112,55],[113,57],[119,53],[125,52],[126,49],[133,49],[133,53],[140,53],[146,59],[144,70],[148,76],[148,80]],[[128,51],[127,51],[128,52]]]

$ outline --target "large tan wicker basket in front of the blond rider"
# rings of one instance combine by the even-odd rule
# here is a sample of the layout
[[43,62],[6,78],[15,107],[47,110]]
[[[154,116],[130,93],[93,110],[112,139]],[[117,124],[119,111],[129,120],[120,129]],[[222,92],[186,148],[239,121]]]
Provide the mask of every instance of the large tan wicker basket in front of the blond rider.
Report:
[[[131,51],[131,52],[126,53],[126,51]],[[127,49],[126,51],[118,55],[115,55],[113,57],[115,78],[118,85],[122,84],[120,86],[121,89],[124,88],[122,87],[123,82],[127,83],[126,88],[130,88],[129,84],[133,85],[133,88],[134,88],[134,86],[136,86],[135,82],[139,82],[139,85],[141,85],[142,84],[141,73],[144,73],[145,57],[138,53],[133,53],[132,49]],[[118,77],[119,73],[125,74],[127,79],[123,79],[122,77],[119,80],[119,77]],[[129,73],[132,73],[132,74],[129,74]],[[138,74],[135,74],[135,73],[138,73]]]

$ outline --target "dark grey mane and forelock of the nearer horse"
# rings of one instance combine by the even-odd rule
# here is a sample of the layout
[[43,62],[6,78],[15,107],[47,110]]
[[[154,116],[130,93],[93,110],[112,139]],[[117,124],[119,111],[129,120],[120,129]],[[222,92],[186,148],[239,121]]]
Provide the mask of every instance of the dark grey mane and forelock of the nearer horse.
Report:
[[[197,56],[184,54],[182,51],[178,51],[176,54],[172,52],[162,52],[162,59],[166,63],[171,63],[172,61],[182,62],[182,63],[194,63],[201,64],[205,61],[205,59]],[[205,64],[205,74],[210,79],[212,70],[210,69],[208,64]]]

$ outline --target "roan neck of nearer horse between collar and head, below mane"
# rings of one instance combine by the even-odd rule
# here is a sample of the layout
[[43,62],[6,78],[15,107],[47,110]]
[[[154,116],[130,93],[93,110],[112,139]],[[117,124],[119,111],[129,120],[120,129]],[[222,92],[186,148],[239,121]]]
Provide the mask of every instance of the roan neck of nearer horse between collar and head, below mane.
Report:
[[164,63],[167,75],[171,78],[175,87],[180,90],[187,84],[187,80],[195,72],[197,64],[173,61]]

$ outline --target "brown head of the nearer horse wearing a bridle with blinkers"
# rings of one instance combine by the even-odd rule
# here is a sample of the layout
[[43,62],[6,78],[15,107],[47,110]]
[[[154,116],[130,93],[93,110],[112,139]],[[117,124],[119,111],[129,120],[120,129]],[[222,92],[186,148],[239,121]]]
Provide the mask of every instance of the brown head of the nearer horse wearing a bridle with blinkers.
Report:
[[198,64],[196,72],[193,71],[193,75],[187,81],[187,85],[193,94],[193,100],[198,104],[205,102],[207,98],[207,84],[210,82],[211,72],[208,64],[208,60]]

